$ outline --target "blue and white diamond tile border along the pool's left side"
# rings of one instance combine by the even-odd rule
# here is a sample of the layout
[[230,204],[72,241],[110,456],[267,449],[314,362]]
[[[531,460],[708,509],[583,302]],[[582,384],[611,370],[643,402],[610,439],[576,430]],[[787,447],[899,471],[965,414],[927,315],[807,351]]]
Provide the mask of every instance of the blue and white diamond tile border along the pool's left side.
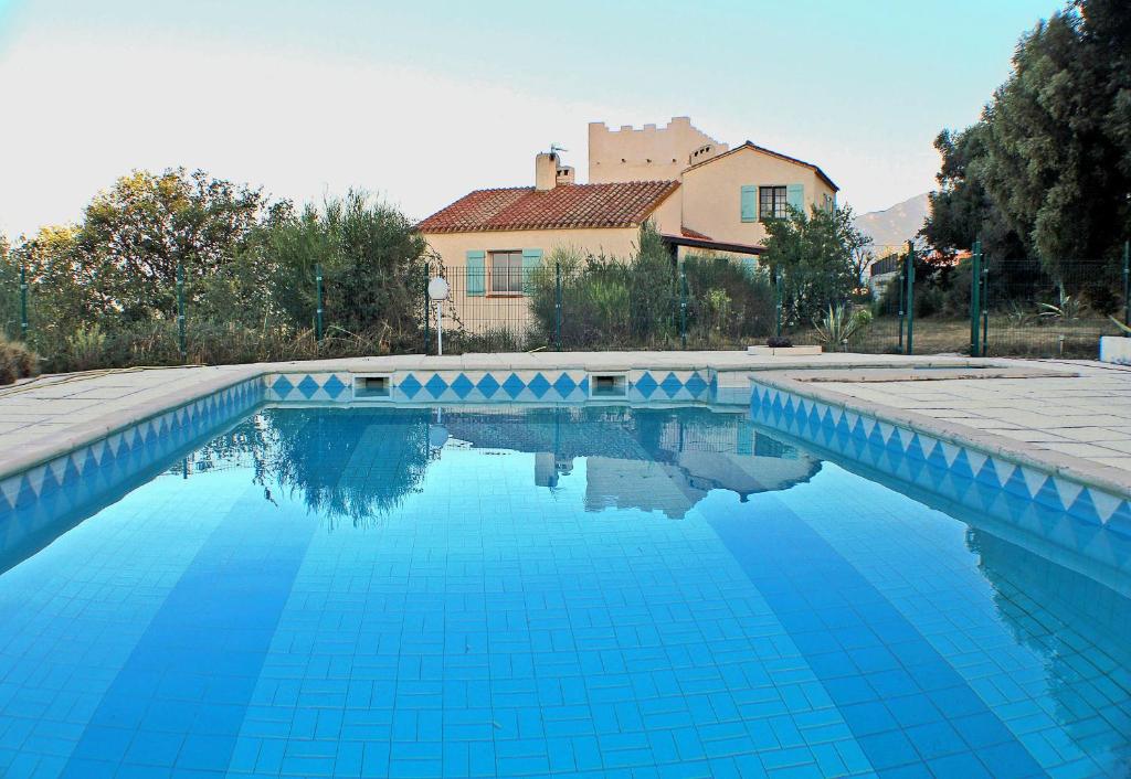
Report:
[[[0,482],[0,527],[9,535],[32,531],[29,523],[48,522],[113,490],[262,400],[262,381],[249,379],[9,476]],[[6,525],[9,519],[20,526]]]

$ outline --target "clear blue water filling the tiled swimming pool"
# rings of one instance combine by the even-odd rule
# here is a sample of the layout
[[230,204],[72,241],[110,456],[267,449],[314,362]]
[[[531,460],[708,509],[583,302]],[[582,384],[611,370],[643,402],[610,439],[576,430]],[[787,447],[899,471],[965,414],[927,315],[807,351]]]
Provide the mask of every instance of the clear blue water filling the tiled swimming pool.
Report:
[[265,408],[6,529],[0,770],[1129,776],[1126,588],[917,497],[705,408]]

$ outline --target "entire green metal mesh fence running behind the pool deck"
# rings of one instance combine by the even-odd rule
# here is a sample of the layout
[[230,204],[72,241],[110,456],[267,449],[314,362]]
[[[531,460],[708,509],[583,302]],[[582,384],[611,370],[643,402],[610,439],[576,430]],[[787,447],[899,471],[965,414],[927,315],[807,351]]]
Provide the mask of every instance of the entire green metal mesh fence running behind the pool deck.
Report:
[[521,258],[489,258],[380,274],[233,266],[165,283],[171,291],[163,300],[174,308],[132,319],[92,318],[74,291],[35,278],[21,291],[18,266],[9,263],[0,265],[0,326],[8,338],[25,337],[45,370],[59,371],[434,354],[437,306],[426,292],[433,276],[450,286],[439,306],[450,354],[733,349],[775,336],[826,350],[969,354],[973,330],[990,356],[1094,358],[1099,337],[1120,332],[1112,318],[1126,318],[1119,261],[1063,261],[1052,274],[1038,263],[986,258],[976,285],[970,260],[923,265],[912,280],[904,258],[886,262],[871,289],[848,293],[724,257],[529,267]]

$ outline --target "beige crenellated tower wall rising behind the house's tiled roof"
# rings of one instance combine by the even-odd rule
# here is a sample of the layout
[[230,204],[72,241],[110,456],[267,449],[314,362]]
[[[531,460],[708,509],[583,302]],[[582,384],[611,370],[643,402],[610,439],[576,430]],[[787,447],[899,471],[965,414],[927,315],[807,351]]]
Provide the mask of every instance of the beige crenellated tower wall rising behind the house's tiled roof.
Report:
[[727,149],[726,144],[692,127],[688,116],[674,116],[664,127],[645,124],[639,130],[629,124],[610,130],[604,122],[590,122],[589,183],[677,181],[691,164],[691,154],[702,146],[711,149],[696,162]]

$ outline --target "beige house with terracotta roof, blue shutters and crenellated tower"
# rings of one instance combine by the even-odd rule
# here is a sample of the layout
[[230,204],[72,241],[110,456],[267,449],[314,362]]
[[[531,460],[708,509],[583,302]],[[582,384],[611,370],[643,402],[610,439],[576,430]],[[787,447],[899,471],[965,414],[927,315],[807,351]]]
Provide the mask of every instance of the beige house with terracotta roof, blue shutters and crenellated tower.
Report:
[[417,225],[448,268],[466,328],[521,327],[526,279],[555,249],[628,258],[651,222],[674,257],[756,262],[768,219],[787,206],[836,204],[837,185],[817,165],[751,141],[731,148],[687,116],[641,130],[593,122],[588,162],[579,184],[556,152],[538,154],[533,187],[476,190]]

